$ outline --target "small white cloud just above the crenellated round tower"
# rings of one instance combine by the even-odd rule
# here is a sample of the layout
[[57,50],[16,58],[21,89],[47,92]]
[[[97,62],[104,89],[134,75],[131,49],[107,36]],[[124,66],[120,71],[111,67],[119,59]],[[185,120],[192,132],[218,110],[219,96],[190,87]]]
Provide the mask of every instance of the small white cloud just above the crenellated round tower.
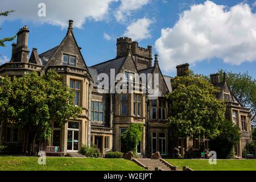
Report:
[[133,40],[143,40],[151,38],[150,26],[153,22],[153,20],[147,18],[138,19],[126,28],[123,36],[132,38]]

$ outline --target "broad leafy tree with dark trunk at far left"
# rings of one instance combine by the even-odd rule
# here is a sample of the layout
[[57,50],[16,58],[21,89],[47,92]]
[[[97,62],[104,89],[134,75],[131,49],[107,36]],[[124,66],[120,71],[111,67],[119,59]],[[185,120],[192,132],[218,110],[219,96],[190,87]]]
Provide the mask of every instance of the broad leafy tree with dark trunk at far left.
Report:
[[24,130],[23,152],[34,153],[36,138],[48,139],[53,122],[60,126],[81,113],[73,105],[74,94],[59,75],[48,71],[39,76],[32,72],[24,77],[2,78],[0,87],[0,117]]

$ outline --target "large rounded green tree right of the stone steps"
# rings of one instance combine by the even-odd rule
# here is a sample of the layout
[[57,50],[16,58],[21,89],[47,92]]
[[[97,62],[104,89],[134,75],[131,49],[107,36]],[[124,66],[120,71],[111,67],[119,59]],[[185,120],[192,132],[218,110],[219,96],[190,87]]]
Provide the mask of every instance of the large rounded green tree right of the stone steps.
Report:
[[191,71],[175,77],[172,86],[174,90],[166,96],[172,103],[168,117],[172,136],[217,137],[225,113],[224,102],[215,96],[219,90],[204,76]]

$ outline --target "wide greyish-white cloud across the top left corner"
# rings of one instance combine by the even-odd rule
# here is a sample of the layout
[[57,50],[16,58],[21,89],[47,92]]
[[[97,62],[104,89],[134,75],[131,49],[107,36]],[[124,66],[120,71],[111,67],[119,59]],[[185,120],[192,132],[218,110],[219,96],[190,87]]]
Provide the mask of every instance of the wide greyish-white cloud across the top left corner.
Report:
[[[15,10],[7,17],[35,23],[50,23],[67,27],[74,20],[74,27],[81,28],[86,19],[102,20],[109,13],[109,5],[116,0],[1,0],[1,10]],[[39,3],[46,4],[46,17],[38,16]],[[0,21],[5,20],[1,18]],[[1,22],[0,22],[1,23]]]

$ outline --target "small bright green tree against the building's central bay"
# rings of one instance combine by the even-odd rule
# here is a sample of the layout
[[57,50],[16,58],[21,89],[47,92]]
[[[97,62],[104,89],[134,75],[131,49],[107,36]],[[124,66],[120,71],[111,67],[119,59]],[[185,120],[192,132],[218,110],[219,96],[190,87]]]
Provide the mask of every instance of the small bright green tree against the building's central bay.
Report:
[[132,151],[137,154],[137,146],[142,139],[144,125],[141,123],[131,123],[130,127],[122,134],[121,140],[125,146],[125,152]]

